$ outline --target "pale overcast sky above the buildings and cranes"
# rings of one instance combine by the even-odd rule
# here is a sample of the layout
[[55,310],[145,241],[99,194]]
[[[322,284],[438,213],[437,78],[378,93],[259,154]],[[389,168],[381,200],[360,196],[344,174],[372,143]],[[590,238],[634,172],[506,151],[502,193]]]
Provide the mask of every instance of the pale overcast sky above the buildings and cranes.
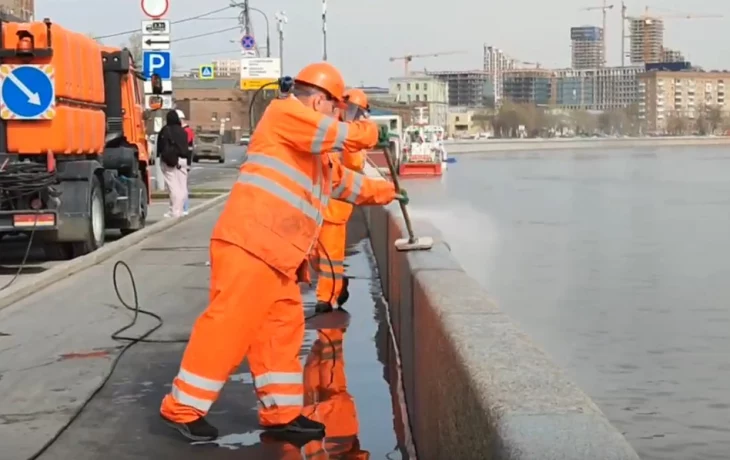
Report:
[[[185,19],[230,5],[229,0],[170,0],[166,19]],[[620,63],[620,0],[608,11],[606,31],[608,64]],[[658,15],[722,15],[722,18],[665,20],[665,46],[680,49],[695,65],[730,69],[730,1],[653,0],[625,1],[628,13],[638,15],[648,5]],[[458,51],[457,54],[417,59],[412,71],[469,70],[482,68],[486,43],[511,57],[541,63],[544,68],[570,66],[570,27],[601,25],[602,0],[328,0],[328,60],[338,66],[348,84],[384,86],[391,76],[404,73],[403,62],[390,57]],[[102,6],[103,5],[103,6]],[[284,72],[295,74],[304,65],[322,60],[321,0],[250,0],[250,6],[267,14],[271,26],[272,55],[278,55],[274,15],[284,11]],[[216,58],[239,58],[241,32],[234,28],[240,9],[172,25],[172,53],[179,70],[196,68]],[[252,13],[254,35],[266,41],[261,14]],[[140,28],[145,19],[139,0],[36,0],[36,18],[51,18],[69,29],[94,36]],[[112,20],[110,20],[112,18]],[[213,18],[213,19],[210,19]],[[176,39],[203,35],[200,38]],[[105,40],[120,45],[128,36]],[[628,45],[627,45],[628,47]]]

